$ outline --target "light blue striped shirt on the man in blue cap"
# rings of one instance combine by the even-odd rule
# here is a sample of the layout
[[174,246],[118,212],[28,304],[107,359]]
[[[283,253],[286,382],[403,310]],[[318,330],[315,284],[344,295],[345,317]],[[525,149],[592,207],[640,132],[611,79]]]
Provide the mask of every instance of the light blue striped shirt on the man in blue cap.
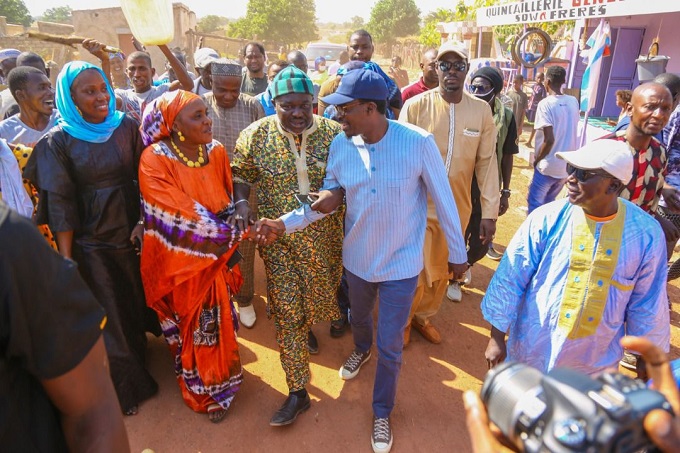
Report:
[[[420,273],[428,193],[446,235],[449,262],[467,261],[456,202],[432,134],[389,121],[377,143],[338,135],[331,144],[323,189],[338,187],[347,199],[342,258],[351,273],[369,282]],[[291,233],[323,216],[303,206],[281,219]]]

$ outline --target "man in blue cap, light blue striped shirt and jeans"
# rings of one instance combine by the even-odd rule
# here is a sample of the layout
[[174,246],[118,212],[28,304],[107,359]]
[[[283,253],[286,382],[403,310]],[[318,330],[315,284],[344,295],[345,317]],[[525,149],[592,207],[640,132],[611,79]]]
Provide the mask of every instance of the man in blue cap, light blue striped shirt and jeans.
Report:
[[[387,86],[357,69],[323,98],[336,105],[344,134],[333,140],[319,198],[283,215],[278,228],[301,230],[347,200],[343,263],[355,349],[340,368],[352,379],[371,356],[373,306],[379,297],[378,366],[373,389],[375,452],[392,446],[389,416],[401,368],[404,328],[423,268],[427,196],[436,206],[449,249],[449,271],[467,270],[465,243],[444,164],[432,134],[385,117]],[[311,201],[311,200],[310,200]]]

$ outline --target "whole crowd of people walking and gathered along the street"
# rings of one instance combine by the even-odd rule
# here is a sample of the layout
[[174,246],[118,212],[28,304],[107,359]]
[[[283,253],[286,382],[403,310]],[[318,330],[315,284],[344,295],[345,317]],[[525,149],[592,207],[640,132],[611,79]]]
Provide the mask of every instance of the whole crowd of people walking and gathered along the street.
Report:
[[[489,368],[596,374],[622,361],[644,379],[637,352],[654,355],[650,374],[667,381],[658,364],[670,347],[665,283],[680,275],[680,262],[667,265],[680,238],[680,77],[635,88],[618,131],[579,147],[563,68],[539,73],[527,96],[521,75],[506,90],[501,71],[470,72],[453,41],[423,52],[411,83],[399,59],[388,72],[373,61],[365,30],[314,68],[300,51],[267,61],[250,42],[239,60],[198,49],[194,74],[162,45],[167,72],[156,77],[136,44],[126,57],[85,40],[100,65],[69,62],[54,89],[38,55],[0,51],[0,301],[12,313],[0,326],[10,383],[0,412],[41,421],[3,419],[6,445],[22,450],[47,426],[47,445],[124,451],[122,415],[158,391],[147,333],[164,336],[186,405],[221,421],[244,379],[237,331],[257,320],[256,250],[289,391],[271,426],[310,408],[311,327],[330,322],[333,337],[351,327],[344,380],[373,356],[375,336],[370,437],[389,452],[411,331],[442,341],[442,301],[462,300],[484,256],[500,260],[481,306]],[[501,253],[525,116],[536,149],[529,215]],[[17,254],[30,259],[17,266]],[[21,279],[30,272],[37,281]],[[474,395],[466,407],[472,432],[490,436]]]

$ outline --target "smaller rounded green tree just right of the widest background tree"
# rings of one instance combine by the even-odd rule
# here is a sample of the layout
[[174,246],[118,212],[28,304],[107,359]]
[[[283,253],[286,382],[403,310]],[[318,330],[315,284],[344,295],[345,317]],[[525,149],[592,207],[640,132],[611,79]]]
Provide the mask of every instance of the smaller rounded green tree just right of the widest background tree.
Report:
[[375,41],[391,46],[396,38],[418,33],[420,10],[413,0],[378,0],[366,28]]

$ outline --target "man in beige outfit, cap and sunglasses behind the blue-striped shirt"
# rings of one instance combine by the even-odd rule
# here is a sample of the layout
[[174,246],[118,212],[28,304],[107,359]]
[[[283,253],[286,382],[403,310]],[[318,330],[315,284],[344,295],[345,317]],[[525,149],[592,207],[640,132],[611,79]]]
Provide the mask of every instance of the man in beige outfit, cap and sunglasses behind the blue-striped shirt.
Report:
[[[496,127],[491,109],[485,101],[465,92],[468,70],[465,47],[453,41],[444,43],[437,53],[436,70],[439,87],[406,101],[399,120],[434,135],[463,231],[466,231],[472,213],[472,179],[473,176],[477,178],[482,210],[478,235],[487,245],[496,232],[500,201]],[[454,302],[462,299],[460,283],[454,281],[448,285],[447,256],[443,253],[446,238],[432,205],[427,217],[423,250],[425,268],[413,300],[411,322],[404,333],[405,344],[410,341],[411,327],[427,341],[440,343],[441,334],[430,320],[439,311],[445,294]]]

